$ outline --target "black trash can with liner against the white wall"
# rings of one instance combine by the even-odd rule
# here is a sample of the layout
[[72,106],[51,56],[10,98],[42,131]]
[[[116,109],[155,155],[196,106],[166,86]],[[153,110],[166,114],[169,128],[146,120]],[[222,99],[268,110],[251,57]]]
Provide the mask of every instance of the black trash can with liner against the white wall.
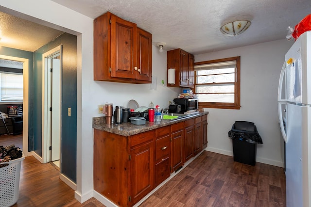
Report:
[[228,136],[232,139],[234,161],[254,166],[257,143],[262,143],[255,124],[236,121],[228,132]]

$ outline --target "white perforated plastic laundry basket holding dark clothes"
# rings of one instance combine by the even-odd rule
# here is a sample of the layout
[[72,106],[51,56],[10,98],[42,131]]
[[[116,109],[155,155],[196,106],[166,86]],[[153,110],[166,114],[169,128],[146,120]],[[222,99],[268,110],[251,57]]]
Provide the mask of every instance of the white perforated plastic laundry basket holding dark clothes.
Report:
[[0,168],[0,207],[10,207],[18,200],[20,164],[23,157],[2,162]]

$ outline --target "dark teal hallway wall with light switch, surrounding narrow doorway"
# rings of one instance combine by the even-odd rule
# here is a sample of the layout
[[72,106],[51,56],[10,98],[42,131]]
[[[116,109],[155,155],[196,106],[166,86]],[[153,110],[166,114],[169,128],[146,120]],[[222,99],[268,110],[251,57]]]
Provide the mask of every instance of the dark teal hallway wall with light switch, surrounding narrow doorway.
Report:
[[[76,182],[77,159],[77,38],[64,33],[34,52],[34,151],[42,155],[42,54],[62,45],[61,173]],[[68,116],[68,108],[71,116]]]

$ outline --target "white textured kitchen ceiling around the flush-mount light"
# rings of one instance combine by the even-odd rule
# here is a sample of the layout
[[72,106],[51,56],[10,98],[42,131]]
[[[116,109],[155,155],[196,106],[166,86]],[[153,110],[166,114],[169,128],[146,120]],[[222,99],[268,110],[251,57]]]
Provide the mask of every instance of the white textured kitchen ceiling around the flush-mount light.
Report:
[[[286,39],[311,12],[311,0],[52,0],[96,18],[108,10],[153,34],[165,50],[182,48],[193,54]],[[219,30],[231,20],[251,20],[241,35]]]

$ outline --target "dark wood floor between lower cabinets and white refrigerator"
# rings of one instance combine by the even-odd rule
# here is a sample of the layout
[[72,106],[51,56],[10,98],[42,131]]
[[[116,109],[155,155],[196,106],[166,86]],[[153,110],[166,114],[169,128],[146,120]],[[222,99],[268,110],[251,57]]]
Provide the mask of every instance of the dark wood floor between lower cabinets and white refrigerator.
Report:
[[204,151],[140,207],[285,207],[283,168]]

